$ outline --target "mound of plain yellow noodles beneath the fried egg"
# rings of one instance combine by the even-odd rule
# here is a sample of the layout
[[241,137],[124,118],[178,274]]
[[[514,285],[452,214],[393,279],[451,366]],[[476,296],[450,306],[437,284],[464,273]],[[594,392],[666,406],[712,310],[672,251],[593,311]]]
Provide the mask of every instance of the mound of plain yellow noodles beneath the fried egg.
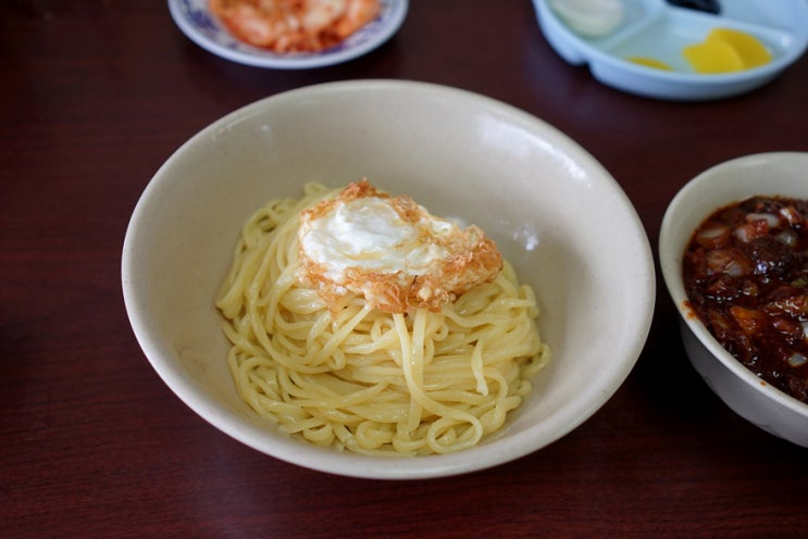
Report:
[[336,313],[300,285],[299,212],[336,195],[308,184],[246,223],[216,306],[239,394],[291,436],[369,455],[471,448],[501,428],[549,360],[533,290],[506,261],[434,313],[387,314],[363,298]]

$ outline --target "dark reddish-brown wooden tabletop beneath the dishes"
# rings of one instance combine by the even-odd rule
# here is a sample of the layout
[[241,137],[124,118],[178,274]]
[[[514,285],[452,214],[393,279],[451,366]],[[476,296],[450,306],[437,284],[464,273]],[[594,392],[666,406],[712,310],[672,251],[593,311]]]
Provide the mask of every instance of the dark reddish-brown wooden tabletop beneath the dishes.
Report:
[[0,71],[0,537],[808,534],[807,450],[710,392],[661,277],[647,346],[589,421],[515,462],[421,481],[308,471],[208,425],[144,358],[120,285],[128,217],[174,149],[260,98],[353,78],[457,86],[554,124],[623,186],[656,253],[691,177],[808,150],[808,58],[746,96],[673,103],[565,64],[529,0],[413,0],[381,49],[309,71],[219,59],[164,1],[5,0]]

